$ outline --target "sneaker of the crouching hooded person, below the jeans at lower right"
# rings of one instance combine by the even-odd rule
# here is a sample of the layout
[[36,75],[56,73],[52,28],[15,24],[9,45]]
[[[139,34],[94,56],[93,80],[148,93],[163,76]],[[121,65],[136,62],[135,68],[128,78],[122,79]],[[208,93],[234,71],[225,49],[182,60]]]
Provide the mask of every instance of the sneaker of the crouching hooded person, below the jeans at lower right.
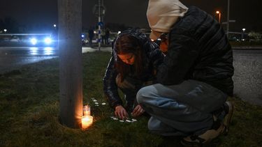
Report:
[[212,139],[219,136],[219,134],[227,134],[229,129],[229,123],[231,122],[231,118],[233,116],[233,105],[231,102],[225,102],[223,106],[223,111],[225,112],[225,117],[223,121],[219,121],[214,116],[214,124],[212,129],[207,130],[205,133],[201,135],[191,135],[189,137],[184,137],[181,140],[181,144],[183,146],[205,146]]

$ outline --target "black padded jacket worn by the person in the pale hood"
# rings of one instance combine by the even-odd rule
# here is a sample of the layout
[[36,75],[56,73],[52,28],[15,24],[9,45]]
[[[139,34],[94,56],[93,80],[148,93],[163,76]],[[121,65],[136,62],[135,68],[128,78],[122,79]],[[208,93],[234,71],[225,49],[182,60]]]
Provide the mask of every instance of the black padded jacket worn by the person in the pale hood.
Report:
[[233,95],[233,55],[221,25],[203,10],[189,7],[169,33],[168,54],[158,82],[180,84],[196,79]]

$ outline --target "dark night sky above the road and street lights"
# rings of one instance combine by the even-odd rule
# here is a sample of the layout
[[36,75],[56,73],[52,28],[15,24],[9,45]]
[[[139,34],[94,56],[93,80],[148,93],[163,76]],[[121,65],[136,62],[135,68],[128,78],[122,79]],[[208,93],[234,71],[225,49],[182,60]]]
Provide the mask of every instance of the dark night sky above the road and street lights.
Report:
[[[260,2],[259,2],[260,1]],[[198,6],[210,15],[221,11],[221,22],[226,21],[227,0],[181,0],[186,6]],[[1,0],[0,18],[9,16],[20,24],[52,25],[57,23],[57,0]],[[146,10],[148,0],[104,0],[104,22],[148,28]],[[98,0],[82,0],[82,22],[85,28],[97,23],[93,7]],[[231,31],[262,30],[261,0],[231,0]]]

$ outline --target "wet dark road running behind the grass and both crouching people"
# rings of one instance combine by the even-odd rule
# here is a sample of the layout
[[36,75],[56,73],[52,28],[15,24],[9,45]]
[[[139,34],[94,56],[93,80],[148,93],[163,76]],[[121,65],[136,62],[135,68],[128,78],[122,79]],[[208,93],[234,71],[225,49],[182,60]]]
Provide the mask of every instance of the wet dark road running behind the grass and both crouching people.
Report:
[[[82,52],[94,52],[97,48],[82,47]],[[101,51],[111,52],[110,47]],[[0,47],[0,74],[19,68],[20,65],[35,63],[58,57],[54,47]],[[235,67],[234,93],[242,100],[262,105],[262,49],[233,50]]]

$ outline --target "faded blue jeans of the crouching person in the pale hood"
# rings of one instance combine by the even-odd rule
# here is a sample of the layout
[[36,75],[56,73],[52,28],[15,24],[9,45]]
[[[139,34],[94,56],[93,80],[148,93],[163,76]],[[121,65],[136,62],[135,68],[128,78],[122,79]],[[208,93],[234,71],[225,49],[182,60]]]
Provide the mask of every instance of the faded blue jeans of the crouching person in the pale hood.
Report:
[[203,134],[212,127],[212,111],[226,102],[227,95],[209,84],[189,79],[171,86],[145,86],[136,98],[152,116],[148,121],[150,131],[165,136],[187,136]]

